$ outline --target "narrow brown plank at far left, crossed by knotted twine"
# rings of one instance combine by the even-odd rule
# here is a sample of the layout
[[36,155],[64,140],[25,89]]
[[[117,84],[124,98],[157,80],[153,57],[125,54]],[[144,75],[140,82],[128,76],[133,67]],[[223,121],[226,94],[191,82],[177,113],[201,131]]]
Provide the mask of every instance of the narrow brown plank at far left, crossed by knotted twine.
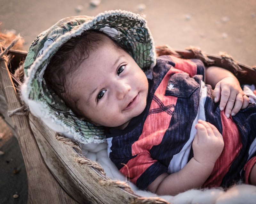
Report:
[[[2,48],[1,48],[2,49]],[[0,81],[9,110],[20,107],[16,90],[5,61],[0,61]],[[13,115],[12,121],[17,133],[20,149],[28,176],[28,203],[72,203],[72,200],[59,186],[47,169],[36,140],[30,130],[28,117]]]

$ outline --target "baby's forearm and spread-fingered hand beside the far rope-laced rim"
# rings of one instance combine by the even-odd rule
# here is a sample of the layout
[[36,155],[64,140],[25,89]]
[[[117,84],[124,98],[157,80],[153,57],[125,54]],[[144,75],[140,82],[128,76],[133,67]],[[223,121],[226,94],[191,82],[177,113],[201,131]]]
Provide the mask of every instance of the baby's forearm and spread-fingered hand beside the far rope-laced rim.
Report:
[[[210,84],[213,91],[214,102],[220,100],[220,110],[224,110],[229,118],[234,116],[241,108],[244,109],[249,104],[249,98],[241,89],[237,78],[228,70],[220,67],[209,67],[205,71],[205,83]],[[235,104],[235,106],[234,106]],[[234,106],[234,107],[233,107]]]

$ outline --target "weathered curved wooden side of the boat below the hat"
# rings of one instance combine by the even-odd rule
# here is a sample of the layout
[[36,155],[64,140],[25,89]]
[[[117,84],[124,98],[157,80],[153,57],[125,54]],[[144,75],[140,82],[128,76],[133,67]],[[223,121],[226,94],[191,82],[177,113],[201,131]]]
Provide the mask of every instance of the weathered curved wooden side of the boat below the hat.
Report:
[[55,132],[40,119],[30,115],[30,125],[45,163],[63,188],[79,203],[130,203],[136,195],[115,186],[100,186],[103,179],[91,167],[74,161],[76,152],[67,144],[56,140]]

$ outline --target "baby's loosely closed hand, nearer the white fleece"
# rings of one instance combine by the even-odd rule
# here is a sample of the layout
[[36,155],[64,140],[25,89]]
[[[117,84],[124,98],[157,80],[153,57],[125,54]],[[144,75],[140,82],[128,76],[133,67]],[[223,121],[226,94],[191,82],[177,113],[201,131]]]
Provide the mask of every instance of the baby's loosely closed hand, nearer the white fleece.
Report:
[[222,135],[209,122],[198,120],[197,133],[192,144],[194,158],[203,165],[213,165],[220,157],[224,147]]

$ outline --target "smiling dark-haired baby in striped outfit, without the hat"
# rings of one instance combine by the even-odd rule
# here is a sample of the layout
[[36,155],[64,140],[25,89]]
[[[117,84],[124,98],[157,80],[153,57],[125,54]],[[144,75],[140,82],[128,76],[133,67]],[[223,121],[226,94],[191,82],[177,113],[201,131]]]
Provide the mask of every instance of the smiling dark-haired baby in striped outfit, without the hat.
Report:
[[240,179],[256,185],[256,106],[236,77],[167,55],[147,77],[106,33],[72,37],[52,56],[44,79],[77,117],[106,127],[119,171],[159,195]]

